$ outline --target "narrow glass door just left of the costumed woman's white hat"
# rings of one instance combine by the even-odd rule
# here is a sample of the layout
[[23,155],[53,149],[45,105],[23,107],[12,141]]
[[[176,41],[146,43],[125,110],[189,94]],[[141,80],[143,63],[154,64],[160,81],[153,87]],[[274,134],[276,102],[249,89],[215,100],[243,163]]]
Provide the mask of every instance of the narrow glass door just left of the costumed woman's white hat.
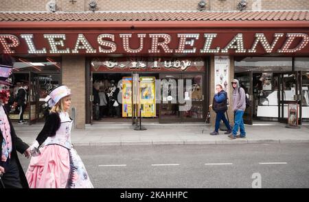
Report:
[[39,116],[39,89],[38,89],[38,75],[36,73],[29,73],[29,90],[27,99],[27,108],[29,110],[29,125],[36,123]]

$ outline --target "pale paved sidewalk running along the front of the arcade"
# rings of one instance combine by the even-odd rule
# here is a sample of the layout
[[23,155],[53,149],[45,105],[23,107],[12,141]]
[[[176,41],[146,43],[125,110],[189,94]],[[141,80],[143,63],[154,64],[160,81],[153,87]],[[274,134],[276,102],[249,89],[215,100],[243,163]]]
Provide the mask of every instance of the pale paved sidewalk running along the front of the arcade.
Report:
[[[210,136],[214,126],[195,123],[147,124],[147,130],[135,131],[129,124],[86,125],[86,129],[72,129],[71,142],[76,146],[92,145],[155,145],[155,144],[247,144],[309,142],[309,125],[300,129],[286,128],[282,123],[245,125],[247,138],[230,140],[225,131]],[[31,144],[43,128],[38,125],[15,125],[17,136]]]

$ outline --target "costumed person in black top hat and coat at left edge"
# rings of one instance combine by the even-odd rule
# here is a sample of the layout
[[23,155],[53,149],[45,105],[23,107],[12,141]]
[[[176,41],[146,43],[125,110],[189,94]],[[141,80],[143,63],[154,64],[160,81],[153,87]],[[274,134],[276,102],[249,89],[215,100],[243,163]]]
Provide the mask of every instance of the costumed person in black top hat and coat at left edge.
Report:
[[[2,186],[5,188],[29,188],[25,173],[19,162],[16,151],[30,157],[29,145],[17,137],[14,127],[3,108],[10,97],[10,73],[12,71],[10,55],[1,55],[0,58],[0,175]],[[0,188],[1,188],[0,184]]]

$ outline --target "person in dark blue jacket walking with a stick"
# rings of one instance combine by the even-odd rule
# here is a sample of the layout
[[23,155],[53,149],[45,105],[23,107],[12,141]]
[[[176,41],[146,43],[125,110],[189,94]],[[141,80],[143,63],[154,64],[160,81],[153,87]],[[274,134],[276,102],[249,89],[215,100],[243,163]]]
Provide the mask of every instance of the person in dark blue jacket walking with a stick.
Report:
[[218,93],[214,95],[214,100],[212,103],[212,109],[216,112],[216,125],[215,130],[210,133],[211,136],[216,136],[219,134],[218,130],[220,127],[220,121],[222,120],[227,127],[227,131],[225,134],[231,134],[231,126],[229,125],[229,121],[225,118],[225,112],[227,112],[227,92],[222,90],[222,86],[220,84],[216,85],[216,90]]

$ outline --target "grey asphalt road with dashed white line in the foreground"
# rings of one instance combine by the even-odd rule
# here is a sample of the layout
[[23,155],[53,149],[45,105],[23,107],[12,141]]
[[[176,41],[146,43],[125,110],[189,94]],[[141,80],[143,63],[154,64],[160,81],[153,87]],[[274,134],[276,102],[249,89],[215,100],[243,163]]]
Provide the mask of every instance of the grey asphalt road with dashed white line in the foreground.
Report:
[[[252,188],[252,184],[309,188],[308,143],[80,146],[76,150],[95,188]],[[26,169],[30,160],[20,158]]]

